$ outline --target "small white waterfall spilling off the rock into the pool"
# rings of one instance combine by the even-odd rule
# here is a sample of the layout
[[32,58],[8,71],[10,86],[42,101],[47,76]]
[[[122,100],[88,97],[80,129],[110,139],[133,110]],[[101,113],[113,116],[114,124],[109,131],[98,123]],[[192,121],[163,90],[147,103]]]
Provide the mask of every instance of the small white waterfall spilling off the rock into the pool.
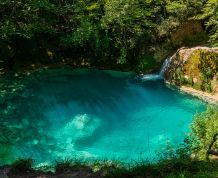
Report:
[[158,74],[146,74],[146,75],[142,75],[141,79],[142,80],[161,80],[163,79],[163,75],[166,72],[166,70],[169,68],[169,65],[171,63],[171,58],[167,58],[162,67],[161,70]]

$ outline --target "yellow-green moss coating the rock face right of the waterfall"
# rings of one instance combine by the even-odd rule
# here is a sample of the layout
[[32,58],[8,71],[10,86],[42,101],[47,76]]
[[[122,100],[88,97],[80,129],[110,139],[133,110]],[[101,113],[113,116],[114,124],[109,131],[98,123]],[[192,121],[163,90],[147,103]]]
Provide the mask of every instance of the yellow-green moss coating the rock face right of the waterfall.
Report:
[[[205,49],[196,49],[190,52],[191,54],[183,66],[174,66],[171,75],[175,84],[213,92],[212,81],[218,71],[218,54]],[[177,58],[183,58],[183,56],[180,54]]]

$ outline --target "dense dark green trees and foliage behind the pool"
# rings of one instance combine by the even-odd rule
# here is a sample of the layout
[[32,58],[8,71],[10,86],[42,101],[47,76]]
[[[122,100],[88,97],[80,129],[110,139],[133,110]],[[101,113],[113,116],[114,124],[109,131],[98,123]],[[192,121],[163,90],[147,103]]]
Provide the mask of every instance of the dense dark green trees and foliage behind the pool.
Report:
[[[216,0],[1,0],[0,66],[157,70],[186,45],[217,45]],[[34,64],[34,65],[33,65]]]

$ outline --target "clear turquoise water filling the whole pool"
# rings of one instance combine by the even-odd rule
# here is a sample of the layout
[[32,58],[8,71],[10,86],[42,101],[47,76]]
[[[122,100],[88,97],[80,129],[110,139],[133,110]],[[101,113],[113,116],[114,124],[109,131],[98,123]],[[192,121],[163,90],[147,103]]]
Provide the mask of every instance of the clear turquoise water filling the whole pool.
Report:
[[10,101],[16,113],[0,122],[0,164],[20,157],[152,160],[167,143],[182,143],[206,107],[162,80],[130,73],[53,69],[31,77],[30,95]]

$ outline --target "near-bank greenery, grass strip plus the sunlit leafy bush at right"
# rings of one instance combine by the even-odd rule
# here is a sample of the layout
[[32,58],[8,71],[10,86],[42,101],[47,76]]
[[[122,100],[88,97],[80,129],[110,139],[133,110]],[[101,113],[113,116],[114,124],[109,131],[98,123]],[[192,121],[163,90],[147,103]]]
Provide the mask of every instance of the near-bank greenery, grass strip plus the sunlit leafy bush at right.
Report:
[[[191,126],[191,136],[179,149],[173,150],[170,146],[166,152],[160,152],[160,161],[157,163],[136,162],[134,165],[123,165],[113,161],[96,161],[93,163],[65,160],[57,162],[55,173],[34,171],[33,162],[18,160],[12,165],[10,177],[19,175],[43,175],[45,177],[67,177],[83,175],[88,177],[105,178],[216,178],[218,177],[218,162],[215,157],[205,160],[207,149],[212,137],[217,133],[218,107],[211,106],[206,112],[198,114]],[[217,142],[212,149],[217,149]],[[51,167],[42,167],[49,170]],[[76,177],[76,176],[75,176]]]

